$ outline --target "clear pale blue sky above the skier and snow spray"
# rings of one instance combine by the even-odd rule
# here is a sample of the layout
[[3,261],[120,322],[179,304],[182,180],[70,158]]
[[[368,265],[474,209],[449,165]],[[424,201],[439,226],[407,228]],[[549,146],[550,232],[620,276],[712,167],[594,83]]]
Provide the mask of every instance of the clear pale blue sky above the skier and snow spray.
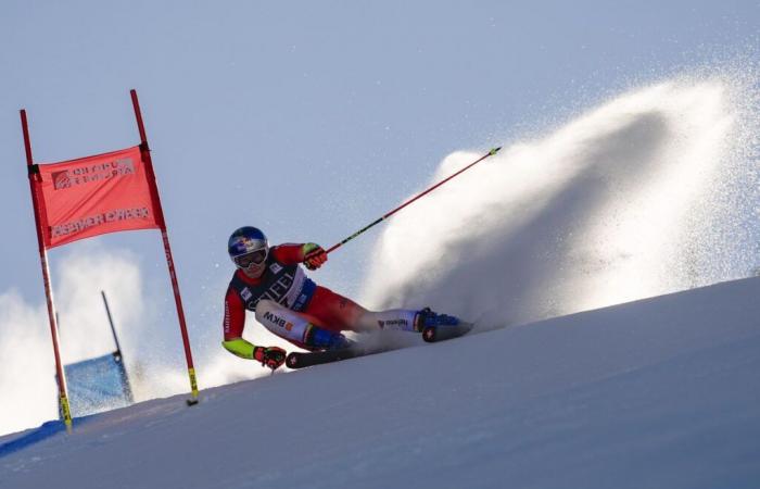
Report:
[[[236,227],[328,247],[452,151],[540,133],[682,67],[757,57],[760,2],[662,3],[4,2],[0,293],[43,301],[21,108],[36,161],[61,161],[137,143],[138,90],[191,331],[213,329]],[[99,241],[135,251],[167,293],[155,231]],[[314,278],[355,293],[372,241]],[[86,252],[54,250],[53,274]]]

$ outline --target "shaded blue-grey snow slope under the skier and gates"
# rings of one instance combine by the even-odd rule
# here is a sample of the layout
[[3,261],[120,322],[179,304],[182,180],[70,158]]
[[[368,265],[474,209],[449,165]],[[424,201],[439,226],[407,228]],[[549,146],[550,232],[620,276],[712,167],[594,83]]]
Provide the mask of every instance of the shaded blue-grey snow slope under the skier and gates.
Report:
[[0,487],[758,487],[758,297],[724,283],[7,436]]

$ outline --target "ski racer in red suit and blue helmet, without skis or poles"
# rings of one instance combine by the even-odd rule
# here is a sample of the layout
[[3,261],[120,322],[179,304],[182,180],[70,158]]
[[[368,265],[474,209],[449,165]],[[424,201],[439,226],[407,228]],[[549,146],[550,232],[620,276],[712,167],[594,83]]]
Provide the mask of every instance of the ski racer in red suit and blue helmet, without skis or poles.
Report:
[[245,226],[232,233],[229,255],[238,269],[225,296],[225,340],[231,353],[277,368],[286,351],[243,339],[245,312],[275,335],[309,351],[346,348],[341,331],[366,333],[379,328],[420,333],[428,326],[456,325],[454,316],[430,309],[368,311],[356,302],[312,281],[303,268],[314,271],[327,262],[327,253],[313,242],[269,248],[261,229]]

